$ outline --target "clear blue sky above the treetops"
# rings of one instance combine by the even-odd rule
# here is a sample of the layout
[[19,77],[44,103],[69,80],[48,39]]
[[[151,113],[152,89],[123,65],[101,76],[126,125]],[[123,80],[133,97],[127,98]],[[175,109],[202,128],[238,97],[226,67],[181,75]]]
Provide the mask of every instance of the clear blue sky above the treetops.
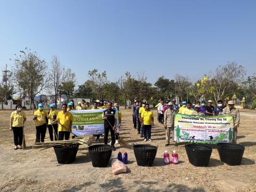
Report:
[[87,71],[200,78],[235,61],[256,73],[256,1],[0,1],[0,68],[29,47]]

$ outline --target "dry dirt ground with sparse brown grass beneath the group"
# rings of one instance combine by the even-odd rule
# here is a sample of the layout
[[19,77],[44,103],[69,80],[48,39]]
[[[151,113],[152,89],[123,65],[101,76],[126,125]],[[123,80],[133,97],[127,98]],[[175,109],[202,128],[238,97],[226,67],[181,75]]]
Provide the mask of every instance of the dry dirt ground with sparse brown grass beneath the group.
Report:
[[[256,112],[241,111],[238,143],[245,146],[242,164],[229,166],[220,161],[213,149],[208,167],[195,167],[188,162],[184,145],[164,147],[165,130],[155,119],[151,139],[158,146],[153,167],[138,166],[132,143],[145,143],[133,129],[131,110],[123,113],[121,137],[130,148],[116,145],[108,166],[92,166],[88,149],[79,146],[74,163],[58,164],[53,148],[39,151],[35,142],[32,111],[26,111],[26,150],[13,150],[13,134],[9,131],[11,111],[0,111],[0,191],[256,191]],[[156,111],[154,111],[156,115]],[[49,134],[46,133],[46,140]],[[100,139],[101,142],[103,138]],[[177,150],[180,164],[164,165],[164,150]],[[111,174],[111,159],[118,151],[127,151],[129,162],[125,174]]]

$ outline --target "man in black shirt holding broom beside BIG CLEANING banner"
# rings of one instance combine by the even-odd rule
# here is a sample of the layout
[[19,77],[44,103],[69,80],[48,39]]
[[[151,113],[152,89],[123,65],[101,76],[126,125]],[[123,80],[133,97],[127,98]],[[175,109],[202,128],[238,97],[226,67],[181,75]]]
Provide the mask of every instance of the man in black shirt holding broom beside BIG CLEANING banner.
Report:
[[115,130],[116,130],[116,111],[112,109],[112,102],[108,102],[108,109],[103,111],[102,119],[104,120],[104,143],[108,144],[108,133],[111,133],[111,146],[115,150]]

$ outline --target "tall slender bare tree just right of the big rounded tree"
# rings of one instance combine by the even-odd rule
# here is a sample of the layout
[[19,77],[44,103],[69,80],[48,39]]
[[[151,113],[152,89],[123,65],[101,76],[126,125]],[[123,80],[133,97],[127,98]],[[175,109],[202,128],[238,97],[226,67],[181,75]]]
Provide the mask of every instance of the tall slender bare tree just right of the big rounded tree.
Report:
[[50,83],[50,90],[54,93],[54,102],[55,106],[57,106],[57,99],[60,92],[60,86],[64,81],[65,78],[65,69],[60,67],[60,61],[56,55],[52,57],[51,61],[51,79]]

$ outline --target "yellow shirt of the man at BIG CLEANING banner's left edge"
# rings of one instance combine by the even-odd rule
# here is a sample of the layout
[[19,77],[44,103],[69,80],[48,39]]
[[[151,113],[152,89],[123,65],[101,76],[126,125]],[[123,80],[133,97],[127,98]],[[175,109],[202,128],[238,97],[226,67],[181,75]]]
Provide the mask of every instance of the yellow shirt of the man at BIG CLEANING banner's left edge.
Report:
[[73,115],[67,111],[67,113],[63,113],[63,111],[60,111],[57,116],[58,121],[61,125],[58,127],[58,131],[70,131],[70,121],[73,121],[74,117]]

